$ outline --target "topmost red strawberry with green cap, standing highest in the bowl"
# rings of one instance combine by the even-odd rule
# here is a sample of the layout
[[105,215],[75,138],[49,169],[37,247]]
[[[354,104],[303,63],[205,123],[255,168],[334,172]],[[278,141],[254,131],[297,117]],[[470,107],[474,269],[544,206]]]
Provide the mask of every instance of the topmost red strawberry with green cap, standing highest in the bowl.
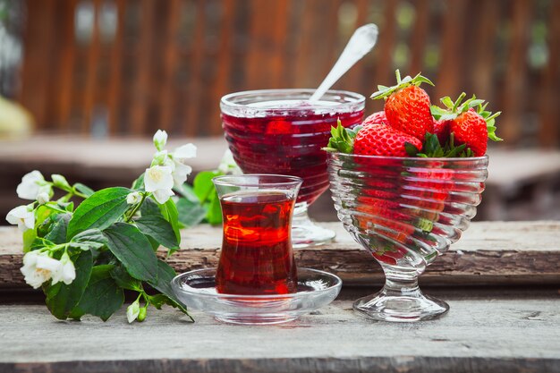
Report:
[[393,87],[378,86],[378,91],[371,98],[386,98],[385,114],[388,124],[404,133],[424,141],[426,132],[434,130],[434,119],[429,111],[429,96],[419,86],[422,82],[434,85],[427,78],[416,75],[401,80],[401,74],[396,72],[397,84]]

